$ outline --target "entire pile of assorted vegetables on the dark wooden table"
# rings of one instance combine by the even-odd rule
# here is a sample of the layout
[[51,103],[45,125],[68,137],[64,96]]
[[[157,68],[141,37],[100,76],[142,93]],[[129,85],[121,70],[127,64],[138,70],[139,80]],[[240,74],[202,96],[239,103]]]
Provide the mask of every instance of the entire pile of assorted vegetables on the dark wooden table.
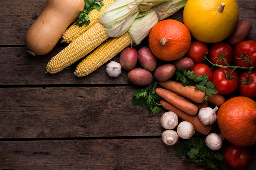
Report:
[[[235,0],[84,0],[75,5],[72,16],[70,11],[56,13],[51,2],[25,37],[32,55],[47,54],[61,35],[61,42],[68,44],[47,63],[47,73],[85,57],[74,75],[87,76],[120,53],[120,63],[106,65],[107,74],[117,77],[126,70],[128,81],[141,87],[132,104],[146,106],[153,115],[167,111],[160,120],[166,129],[162,140],[171,146],[182,139],[184,148],[175,147],[176,156],[216,170],[223,169],[224,159],[233,168],[248,165],[248,152],[247,161],[239,164],[228,158],[229,150],[225,157],[221,150],[224,138],[237,147],[256,144],[256,41],[245,40],[252,24],[238,22]],[[166,19],[183,7],[184,24]],[[69,20],[53,25],[49,13]],[[45,17],[51,21],[42,25],[40,18]],[[43,31],[48,26],[59,34],[45,36],[53,34]],[[148,47],[132,47],[147,36]],[[37,44],[41,37],[44,41]],[[211,132],[214,123],[221,134]],[[206,135],[205,141],[196,139],[195,132]]]

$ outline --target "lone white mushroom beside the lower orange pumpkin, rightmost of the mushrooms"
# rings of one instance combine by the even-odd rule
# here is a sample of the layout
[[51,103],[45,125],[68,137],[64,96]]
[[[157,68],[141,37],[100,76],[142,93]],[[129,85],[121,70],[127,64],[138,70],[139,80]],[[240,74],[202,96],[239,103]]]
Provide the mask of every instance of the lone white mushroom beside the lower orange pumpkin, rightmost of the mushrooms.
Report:
[[219,150],[222,147],[222,138],[217,133],[210,133],[205,137],[205,144],[211,150]]

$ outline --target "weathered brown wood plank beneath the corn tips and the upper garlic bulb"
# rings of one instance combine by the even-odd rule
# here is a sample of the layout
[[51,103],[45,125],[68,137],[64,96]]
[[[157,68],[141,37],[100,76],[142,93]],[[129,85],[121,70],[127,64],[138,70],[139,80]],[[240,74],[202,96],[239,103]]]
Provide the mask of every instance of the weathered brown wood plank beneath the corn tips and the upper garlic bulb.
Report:
[[[61,49],[55,48],[48,56],[32,57],[25,47],[0,47],[0,85],[129,84],[126,70],[122,70],[119,77],[113,78],[106,73],[106,65],[102,65],[93,74],[76,77],[73,72],[81,60],[56,74],[45,74],[51,56]],[[119,61],[119,56],[112,60]]]

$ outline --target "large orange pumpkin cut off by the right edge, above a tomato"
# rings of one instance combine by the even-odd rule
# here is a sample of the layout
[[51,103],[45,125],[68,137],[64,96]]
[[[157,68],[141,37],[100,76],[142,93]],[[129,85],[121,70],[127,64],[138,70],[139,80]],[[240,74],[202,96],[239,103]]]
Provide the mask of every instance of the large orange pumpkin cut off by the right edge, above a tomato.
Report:
[[247,97],[234,97],[224,102],[217,113],[222,135],[237,146],[256,144],[256,102]]

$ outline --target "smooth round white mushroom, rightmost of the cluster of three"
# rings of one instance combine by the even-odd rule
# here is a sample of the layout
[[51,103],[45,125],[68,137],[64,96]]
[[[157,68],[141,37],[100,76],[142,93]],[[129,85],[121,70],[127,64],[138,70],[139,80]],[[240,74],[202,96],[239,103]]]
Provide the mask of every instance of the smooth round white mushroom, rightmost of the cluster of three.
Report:
[[177,127],[177,133],[182,139],[190,139],[194,134],[194,126],[190,122],[182,121]]

